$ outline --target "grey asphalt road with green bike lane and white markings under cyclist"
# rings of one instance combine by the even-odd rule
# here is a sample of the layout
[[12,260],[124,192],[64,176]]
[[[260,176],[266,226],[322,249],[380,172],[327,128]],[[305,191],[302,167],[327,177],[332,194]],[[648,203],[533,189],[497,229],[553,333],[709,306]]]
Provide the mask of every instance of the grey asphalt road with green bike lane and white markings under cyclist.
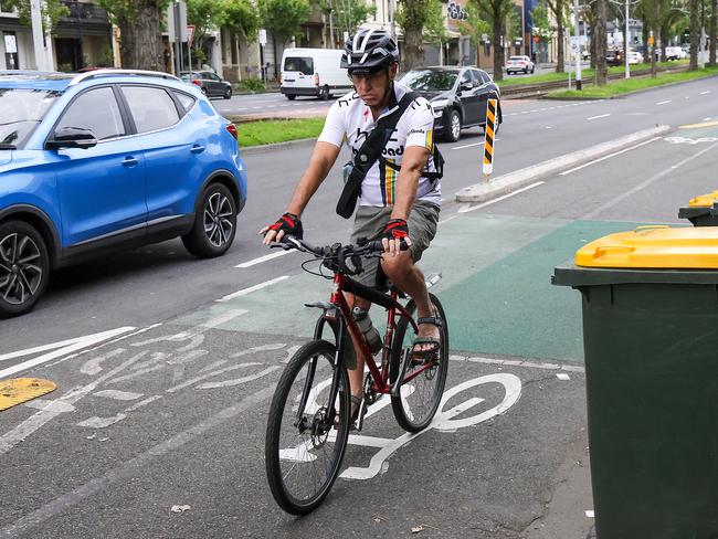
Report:
[[[585,537],[580,304],[549,277],[585,241],[677,223],[679,205],[716,189],[718,127],[678,129],[718,118],[716,81],[610,102],[505,102],[497,173],[657,123],[676,130],[486,204],[451,202],[478,179],[479,133],[442,146],[446,203],[422,261],[443,273],[451,328],[454,394],[440,419],[483,402],[462,426],[412,440],[378,411],[361,434],[399,440],[395,451],[384,459],[356,438],[345,467],[362,478],[339,479],[304,519],[268,494],[264,429],[283,361],[312,327],[302,304],[329,287],[296,254],[246,263],[267,254],[256,230],[283,211],[309,147],[245,155],[250,199],[224,257],[196,261],[172,241],[59,273],[33,313],[0,323],[0,378],[34,361],[13,376],[57,384],[0,412],[12,493],[0,537],[393,538],[421,525],[421,537]],[[308,240],[347,236],[332,211],[339,188],[335,171],[304,218]]]

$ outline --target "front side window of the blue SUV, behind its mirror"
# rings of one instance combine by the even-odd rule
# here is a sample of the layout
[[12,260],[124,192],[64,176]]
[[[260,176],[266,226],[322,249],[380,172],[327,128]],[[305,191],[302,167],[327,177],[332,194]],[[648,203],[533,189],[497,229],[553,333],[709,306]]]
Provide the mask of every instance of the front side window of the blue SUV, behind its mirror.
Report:
[[88,89],[72,102],[55,131],[63,127],[89,129],[97,140],[127,135],[115,93],[107,86]]

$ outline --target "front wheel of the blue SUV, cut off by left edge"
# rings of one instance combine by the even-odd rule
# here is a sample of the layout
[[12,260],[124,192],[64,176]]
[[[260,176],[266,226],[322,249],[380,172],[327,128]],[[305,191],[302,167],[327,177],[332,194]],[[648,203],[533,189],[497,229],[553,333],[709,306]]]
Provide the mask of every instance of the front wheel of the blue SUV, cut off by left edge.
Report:
[[24,315],[47,287],[50,255],[42,235],[22,221],[0,224],[0,316]]

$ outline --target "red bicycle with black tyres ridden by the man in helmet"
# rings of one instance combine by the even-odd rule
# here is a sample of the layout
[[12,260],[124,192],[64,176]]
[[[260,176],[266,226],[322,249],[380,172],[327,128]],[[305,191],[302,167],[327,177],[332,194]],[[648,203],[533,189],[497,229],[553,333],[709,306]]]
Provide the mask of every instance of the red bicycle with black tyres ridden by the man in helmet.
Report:
[[[334,281],[328,303],[306,304],[323,310],[314,338],[299,348],[284,370],[270,408],[265,440],[265,463],[272,495],[287,512],[304,515],[316,509],[329,493],[339,474],[349,438],[349,430],[361,430],[369,405],[389,395],[397,422],[409,432],[425,429],[434,418],[444,392],[448,368],[448,329],[444,309],[433,294],[431,302],[440,326],[441,346],[434,353],[412,357],[418,331],[413,318],[415,304],[395,288],[384,294],[351,278],[362,272],[361,257],[381,256],[381,242],[360,241],[357,245],[339,243],[315,247],[293,236],[283,249],[295,249],[314,257],[303,264],[320,261],[321,275]],[[321,273],[327,268],[331,275]],[[440,275],[427,278],[427,286]],[[387,329],[380,361],[377,363],[369,344],[359,329],[344,292],[369,299],[387,310]],[[408,299],[402,305],[399,299]],[[331,337],[324,338],[329,327]],[[368,367],[358,419],[351,422],[349,378],[345,350],[352,346],[348,336],[359,344]],[[348,345],[347,345],[348,344]]]

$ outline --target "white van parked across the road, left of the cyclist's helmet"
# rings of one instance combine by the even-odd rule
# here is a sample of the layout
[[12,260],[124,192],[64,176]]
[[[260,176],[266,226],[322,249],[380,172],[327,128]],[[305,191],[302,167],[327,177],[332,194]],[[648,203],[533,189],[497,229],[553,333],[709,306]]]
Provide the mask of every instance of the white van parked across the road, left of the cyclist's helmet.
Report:
[[287,99],[297,95],[328,99],[334,91],[350,91],[352,86],[347,70],[339,67],[341,54],[342,51],[337,49],[285,49],[281,92]]

